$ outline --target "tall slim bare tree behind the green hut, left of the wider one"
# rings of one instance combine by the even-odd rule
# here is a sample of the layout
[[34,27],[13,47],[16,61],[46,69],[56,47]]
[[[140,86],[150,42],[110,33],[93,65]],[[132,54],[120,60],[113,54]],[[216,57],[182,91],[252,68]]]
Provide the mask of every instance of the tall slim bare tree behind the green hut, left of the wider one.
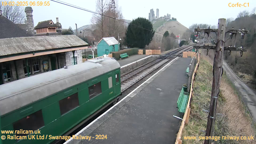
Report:
[[94,24],[97,29],[94,35],[98,38],[104,37],[104,12],[106,11],[106,0],[97,0],[96,1],[96,12],[98,14],[93,14],[91,22]]

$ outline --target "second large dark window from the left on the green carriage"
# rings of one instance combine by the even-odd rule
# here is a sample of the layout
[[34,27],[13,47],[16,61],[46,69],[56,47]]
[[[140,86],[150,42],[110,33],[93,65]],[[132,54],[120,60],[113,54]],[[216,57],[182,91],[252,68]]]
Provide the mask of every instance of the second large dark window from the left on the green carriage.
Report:
[[66,98],[59,101],[60,104],[60,114],[65,114],[66,112],[79,106],[78,93],[72,94]]

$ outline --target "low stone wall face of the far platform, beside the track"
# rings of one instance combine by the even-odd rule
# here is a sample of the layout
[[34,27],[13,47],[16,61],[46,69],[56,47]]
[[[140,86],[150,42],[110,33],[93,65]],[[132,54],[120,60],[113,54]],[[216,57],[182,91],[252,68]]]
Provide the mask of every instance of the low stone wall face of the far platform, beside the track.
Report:
[[134,70],[135,68],[137,68],[138,66],[141,66],[142,64],[146,64],[147,62],[149,62],[151,60],[154,60],[156,58],[158,58],[158,56],[150,56],[150,57],[145,58],[143,60],[136,61],[133,64],[130,64],[128,66],[121,67],[121,75],[125,74],[127,72],[130,72],[130,71]]

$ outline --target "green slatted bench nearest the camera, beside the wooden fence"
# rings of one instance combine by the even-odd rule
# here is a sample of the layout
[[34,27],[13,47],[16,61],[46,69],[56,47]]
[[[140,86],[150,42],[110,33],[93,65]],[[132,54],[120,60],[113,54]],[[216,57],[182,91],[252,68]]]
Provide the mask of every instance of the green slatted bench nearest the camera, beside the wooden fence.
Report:
[[185,113],[186,107],[187,107],[187,104],[188,104],[188,97],[189,97],[189,94],[187,92],[184,92],[184,89],[182,88],[182,90],[180,92],[180,96],[179,96],[178,101],[177,101],[179,112]]

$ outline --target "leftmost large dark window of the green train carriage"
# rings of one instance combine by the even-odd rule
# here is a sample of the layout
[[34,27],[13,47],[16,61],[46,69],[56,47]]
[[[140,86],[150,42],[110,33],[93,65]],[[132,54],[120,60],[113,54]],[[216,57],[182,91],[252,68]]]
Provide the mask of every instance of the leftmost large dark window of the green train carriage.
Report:
[[[13,130],[38,130],[44,126],[42,110],[38,110],[12,124]],[[28,134],[16,134],[17,136],[26,136]]]

